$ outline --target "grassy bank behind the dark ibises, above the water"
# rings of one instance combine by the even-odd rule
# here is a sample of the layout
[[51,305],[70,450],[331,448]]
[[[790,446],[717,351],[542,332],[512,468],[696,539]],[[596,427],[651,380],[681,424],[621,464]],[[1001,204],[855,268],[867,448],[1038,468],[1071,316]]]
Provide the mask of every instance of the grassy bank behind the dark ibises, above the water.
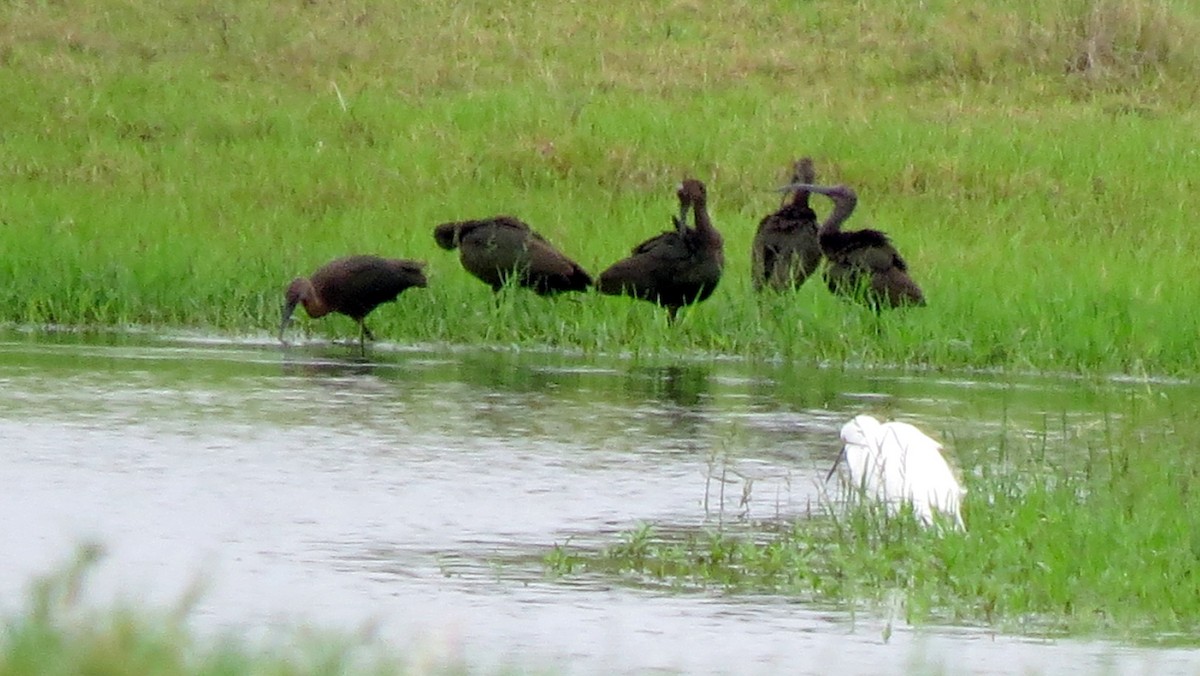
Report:
[[[400,342],[1200,367],[1192,4],[706,5],[8,2],[0,321],[266,331],[288,280],[364,251],[430,262],[372,317]],[[763,189],[800,154],[928,309],[754,295]],[[728,263],[674,330],[624,299],[496,306],[431,237],[511,213],[599,271],[688,174]]]

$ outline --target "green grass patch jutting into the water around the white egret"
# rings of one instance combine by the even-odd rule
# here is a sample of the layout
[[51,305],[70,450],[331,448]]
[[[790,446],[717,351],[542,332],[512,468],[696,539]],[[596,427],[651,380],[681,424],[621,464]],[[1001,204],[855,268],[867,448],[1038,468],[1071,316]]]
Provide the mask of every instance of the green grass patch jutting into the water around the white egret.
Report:
[[653,524],[616,544],[546,555],[557,575],[634,585],[782,593],[916,624],[988,626],[1196,645],[1200,497],[1195,420],[1139,407],[1102,429],[1006,435],[959,455],[965,532],[866,505],[790,522],[679,530]]

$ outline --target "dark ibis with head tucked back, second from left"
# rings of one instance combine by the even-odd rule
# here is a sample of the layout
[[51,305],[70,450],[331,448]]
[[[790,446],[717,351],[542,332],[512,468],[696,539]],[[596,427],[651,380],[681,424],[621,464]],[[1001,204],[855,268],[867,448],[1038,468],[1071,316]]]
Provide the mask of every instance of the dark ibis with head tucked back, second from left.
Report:
[[578,263],[512,216],[442,223],[433,228],[433,239],[446,251],[457,249],[462,267],[493,292],[510,280],[540,295],[592,286]]

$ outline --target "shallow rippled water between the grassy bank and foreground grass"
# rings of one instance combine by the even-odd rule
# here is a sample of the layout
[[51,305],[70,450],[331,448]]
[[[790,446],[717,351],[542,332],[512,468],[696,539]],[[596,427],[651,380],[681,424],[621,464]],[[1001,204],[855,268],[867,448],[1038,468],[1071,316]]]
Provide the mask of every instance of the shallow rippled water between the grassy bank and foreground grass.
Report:
[[1184,383],[5,334],[0,606],[100,542],[100,602],[170,604],[200,581],[205,629],[370,626],[484,668],[1196,671],[1194,650],[902,621],[884,641],[887,617],[553,580],[540,562],[642,521],[802,515],[860,412],[949,439],[970,472],[1164,393],[1200,400]]

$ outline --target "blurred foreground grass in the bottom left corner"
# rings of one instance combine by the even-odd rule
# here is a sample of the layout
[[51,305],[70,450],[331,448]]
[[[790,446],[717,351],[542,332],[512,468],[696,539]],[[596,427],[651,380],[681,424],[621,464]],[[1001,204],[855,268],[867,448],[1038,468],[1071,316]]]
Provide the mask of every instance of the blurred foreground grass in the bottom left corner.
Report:
[[461,664],[415,664],[385,654],[371,641],[301,632],[253,645],[226,635],[200,639],[188,627],[194,598],[167,612],[118,606],[92,610],[82,602],[86,574],[100,549],[82,548],[76,561],[32,586],[28,606],[0,629],[2,676],[146,675],[368,675],[469,674]]

